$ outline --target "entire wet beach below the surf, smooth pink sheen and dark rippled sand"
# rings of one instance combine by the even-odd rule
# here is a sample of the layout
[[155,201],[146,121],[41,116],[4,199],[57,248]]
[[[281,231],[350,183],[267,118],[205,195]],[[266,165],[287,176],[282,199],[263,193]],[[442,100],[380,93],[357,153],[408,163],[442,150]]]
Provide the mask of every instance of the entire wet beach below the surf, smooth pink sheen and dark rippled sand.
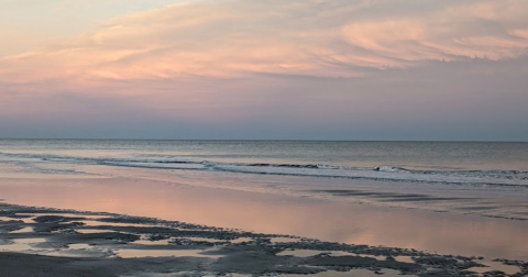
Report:
[[[492,209],[520,214],[524,191],[503,189],[495,199],[495,188],[94,171],[0,179],[0,198],[22,204],[0,208],[0,268],[11,268],[8,276],[81,276],[87,268],[100,274],[89,276],[526,274],[528,221]],[[30,262],[35,272],[16,275],[16,263]]]

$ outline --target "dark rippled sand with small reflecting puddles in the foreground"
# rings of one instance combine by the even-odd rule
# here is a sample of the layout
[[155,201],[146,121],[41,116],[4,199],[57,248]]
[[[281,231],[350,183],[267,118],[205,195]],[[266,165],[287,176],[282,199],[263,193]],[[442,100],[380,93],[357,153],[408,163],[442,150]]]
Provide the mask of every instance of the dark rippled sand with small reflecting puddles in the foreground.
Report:
[[114,213],[3,203],[0,215],[2,276],[528,274],[528,263],[519,261],[490,262]]

